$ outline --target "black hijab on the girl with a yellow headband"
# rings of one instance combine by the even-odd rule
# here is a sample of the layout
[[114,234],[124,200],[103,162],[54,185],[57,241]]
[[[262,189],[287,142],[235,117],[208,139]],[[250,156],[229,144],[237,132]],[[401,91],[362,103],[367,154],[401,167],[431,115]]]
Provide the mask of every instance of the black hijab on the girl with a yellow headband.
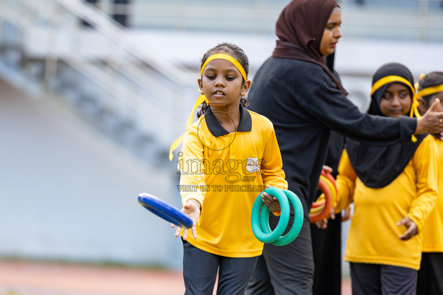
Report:
[[[412,77],[411,71],[409,71],[406,66],[398,63],[381,66],[374,74],[372,84],[387,76],[399,76],[408,80],[411,85],[414,85],[414,78]],[[371,105],[368,110],[369,114],[384,116],[380,110],[380,100],[386,89],[392,83],[402,82],[392,81],[377,89],[371,97]],[[410,89],[407,84],[405,85],[408,87],[412,99],[414,97],[413,90]],[[360,178],[363,184],[369,188],[383,188],[403,172],[426,135],[427,134],[416,135],[416,142],[409,142],[403,145],[395,144],[388,147],[372,146],[348,139],[346,151],[358,178]]]

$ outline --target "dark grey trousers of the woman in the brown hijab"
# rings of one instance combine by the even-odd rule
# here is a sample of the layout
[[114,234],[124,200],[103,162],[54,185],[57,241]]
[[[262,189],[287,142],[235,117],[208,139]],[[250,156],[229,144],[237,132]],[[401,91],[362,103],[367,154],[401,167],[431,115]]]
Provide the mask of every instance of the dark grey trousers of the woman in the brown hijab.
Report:
[[[269,224],[274,229],[278,216],[269,215]],[[294,215],[288,223],[288,232]],[[312,295],[314,260],[312,258],[311,227],[303,219],[303,226],[294,241],[285,246],[264,244],[253,276],[246,289],[247,295]]]

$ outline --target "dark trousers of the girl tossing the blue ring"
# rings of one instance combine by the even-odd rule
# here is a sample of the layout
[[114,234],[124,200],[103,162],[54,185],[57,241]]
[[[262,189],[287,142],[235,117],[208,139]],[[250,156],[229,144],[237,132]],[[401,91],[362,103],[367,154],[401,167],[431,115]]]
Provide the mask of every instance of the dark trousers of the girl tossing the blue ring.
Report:
[[217,295],[244,295],[256,261],[257,257],[215,255],[183,241],[185,295],[212,295],[217,271]]

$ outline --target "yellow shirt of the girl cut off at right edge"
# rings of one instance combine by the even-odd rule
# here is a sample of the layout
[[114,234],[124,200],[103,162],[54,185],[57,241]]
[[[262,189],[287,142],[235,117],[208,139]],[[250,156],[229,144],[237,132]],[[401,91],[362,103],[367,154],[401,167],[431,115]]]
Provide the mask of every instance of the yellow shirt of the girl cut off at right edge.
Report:
[[422,252],[443,252],[443,141],[435,139],[439,152],[439,196],[424,222]]

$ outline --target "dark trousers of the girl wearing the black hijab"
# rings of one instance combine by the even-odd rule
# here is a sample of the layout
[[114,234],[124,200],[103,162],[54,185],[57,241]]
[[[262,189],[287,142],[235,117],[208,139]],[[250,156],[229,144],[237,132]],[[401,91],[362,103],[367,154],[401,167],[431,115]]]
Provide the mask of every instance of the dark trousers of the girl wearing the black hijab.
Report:
[[353,262],[350,267],[352,295],[416,295],[415,269]]

